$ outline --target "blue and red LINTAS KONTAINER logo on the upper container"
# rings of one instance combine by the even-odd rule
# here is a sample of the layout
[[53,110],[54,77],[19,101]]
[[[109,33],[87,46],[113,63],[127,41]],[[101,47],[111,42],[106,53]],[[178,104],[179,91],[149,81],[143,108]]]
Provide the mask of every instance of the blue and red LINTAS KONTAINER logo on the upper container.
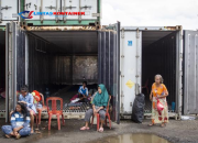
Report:
[[51,16],[59,16],[59,15],[85,15],[85,12],[34,12],[34,11],[23,11],[20,12],[19,15],[23,19],[32,19],[33,15],[51,15]]

